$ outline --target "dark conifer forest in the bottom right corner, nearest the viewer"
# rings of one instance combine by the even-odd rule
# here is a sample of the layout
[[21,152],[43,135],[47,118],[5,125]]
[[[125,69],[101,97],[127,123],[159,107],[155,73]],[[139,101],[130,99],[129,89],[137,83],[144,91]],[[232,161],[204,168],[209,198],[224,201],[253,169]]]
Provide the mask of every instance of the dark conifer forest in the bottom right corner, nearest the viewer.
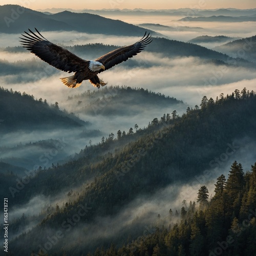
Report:
[[167,227],[156,225],[136,240],[127,237],[120,248],[112,244],[87,255],[256,255],[256,162],[251,172],[244,173],[237,161],[230,169],[227,179],[217,178],[214,197],[203,185],[197,204],[183,200],[179,211],[170,208]]

